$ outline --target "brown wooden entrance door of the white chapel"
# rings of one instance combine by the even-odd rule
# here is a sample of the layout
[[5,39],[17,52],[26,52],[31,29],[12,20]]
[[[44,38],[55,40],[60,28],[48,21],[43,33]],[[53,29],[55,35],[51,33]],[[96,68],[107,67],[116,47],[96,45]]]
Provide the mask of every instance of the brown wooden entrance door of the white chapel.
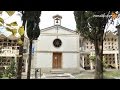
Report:
[[53,53],[53,68],[60,69],[62,63],[62,53]]

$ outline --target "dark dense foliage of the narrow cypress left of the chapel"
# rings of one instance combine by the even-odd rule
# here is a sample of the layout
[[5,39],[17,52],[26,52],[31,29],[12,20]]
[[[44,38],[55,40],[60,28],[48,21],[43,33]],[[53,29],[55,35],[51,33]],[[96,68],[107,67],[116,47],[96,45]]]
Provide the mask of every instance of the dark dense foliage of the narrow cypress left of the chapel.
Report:
[[25,11],[23,19],[27,21],[27,36],[37,39],[40,35],[39,22],[41,11]]

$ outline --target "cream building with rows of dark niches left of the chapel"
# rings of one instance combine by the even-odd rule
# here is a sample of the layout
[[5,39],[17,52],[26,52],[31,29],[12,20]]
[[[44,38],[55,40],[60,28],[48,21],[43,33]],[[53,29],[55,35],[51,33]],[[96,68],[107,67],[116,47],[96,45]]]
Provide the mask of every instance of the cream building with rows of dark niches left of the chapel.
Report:
[[[3,34],[0,34],[0,67],[8,67],[11,64],[12,60],[19,60],[19,45],[17,42],[18,38],[10,35],[6,37]],[[23,56],[23,72],[25,71],[26,59],[28,58],[28,39],[24,39],[24,56]]]

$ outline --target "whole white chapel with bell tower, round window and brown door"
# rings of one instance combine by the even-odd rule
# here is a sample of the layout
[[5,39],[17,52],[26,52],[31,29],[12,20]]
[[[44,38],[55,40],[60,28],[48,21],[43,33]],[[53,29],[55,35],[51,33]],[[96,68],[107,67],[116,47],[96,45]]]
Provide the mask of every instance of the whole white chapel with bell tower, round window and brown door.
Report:
[[61,26],[61,19],[60,15],[53,16],[54,25],[41,29],[38,40],[33,42],[32,69],[79,72],[79,35],[75,30]]

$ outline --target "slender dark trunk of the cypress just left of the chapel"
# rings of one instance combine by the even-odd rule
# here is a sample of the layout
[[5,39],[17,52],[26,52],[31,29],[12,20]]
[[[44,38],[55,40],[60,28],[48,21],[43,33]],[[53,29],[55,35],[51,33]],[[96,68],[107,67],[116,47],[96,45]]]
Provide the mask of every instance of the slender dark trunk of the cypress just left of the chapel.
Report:
[[31,73],[32,41],[33,41],[33,40],[32,40],[32,39],[30,39],[27,79],[30,79],[30,73]]

